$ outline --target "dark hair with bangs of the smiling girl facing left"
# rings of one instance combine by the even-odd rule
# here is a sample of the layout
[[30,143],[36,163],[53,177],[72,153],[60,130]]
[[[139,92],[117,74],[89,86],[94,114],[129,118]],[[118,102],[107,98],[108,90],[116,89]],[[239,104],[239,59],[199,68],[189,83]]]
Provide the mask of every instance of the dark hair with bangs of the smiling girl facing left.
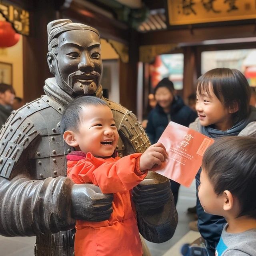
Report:
[[197,80],[199,94],[206,92],[210,96],[209,85],[226,109],[232,109],[238,104],[238,111],[232,114],[234,124],[248,117],[250,86],[239,70],[214,68],[206,72]]

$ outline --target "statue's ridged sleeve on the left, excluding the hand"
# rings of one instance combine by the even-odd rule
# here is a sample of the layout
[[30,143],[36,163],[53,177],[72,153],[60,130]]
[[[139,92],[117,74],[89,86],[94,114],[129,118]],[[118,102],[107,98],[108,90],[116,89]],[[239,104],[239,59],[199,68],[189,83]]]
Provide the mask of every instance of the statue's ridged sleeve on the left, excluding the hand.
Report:
[[68,230],[72,181],[66,177],[29,180],[18,175],[0,177],[0,234],[33,236]]

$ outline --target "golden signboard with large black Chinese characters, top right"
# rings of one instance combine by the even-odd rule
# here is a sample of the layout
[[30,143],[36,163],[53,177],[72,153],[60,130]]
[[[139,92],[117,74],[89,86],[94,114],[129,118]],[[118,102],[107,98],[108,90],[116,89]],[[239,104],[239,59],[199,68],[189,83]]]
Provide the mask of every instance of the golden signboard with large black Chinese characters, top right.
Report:
[[170,25],[256,18],[255,0],[168,0]]

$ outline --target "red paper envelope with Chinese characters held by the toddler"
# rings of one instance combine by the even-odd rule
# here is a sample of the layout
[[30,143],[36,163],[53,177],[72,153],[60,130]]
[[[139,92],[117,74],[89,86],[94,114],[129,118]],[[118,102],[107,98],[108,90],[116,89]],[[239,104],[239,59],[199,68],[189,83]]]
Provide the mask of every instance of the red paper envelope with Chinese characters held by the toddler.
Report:
[[157,173],[189,187],[198,172],[205,150],[214,140],[188,127],[170,122],[158,140],[168,153]]

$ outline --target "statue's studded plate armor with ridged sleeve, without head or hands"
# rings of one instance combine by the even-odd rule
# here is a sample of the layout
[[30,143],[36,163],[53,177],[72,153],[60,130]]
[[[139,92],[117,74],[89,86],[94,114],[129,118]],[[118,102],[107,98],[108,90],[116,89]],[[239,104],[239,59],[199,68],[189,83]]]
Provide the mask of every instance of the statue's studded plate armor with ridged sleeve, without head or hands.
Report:
[[[66,154],[73,148],[62,139],[59,122],[73,98],[50,87],[44,88],[47,95],[12,112],[0,131],[0,234],[36,234],[35,255],[72,256],[75,222],[67,212],[73,182],[65,176]],[[120,134],[119,155],[144,152],[150,142],[136,116],[106,101]]]

